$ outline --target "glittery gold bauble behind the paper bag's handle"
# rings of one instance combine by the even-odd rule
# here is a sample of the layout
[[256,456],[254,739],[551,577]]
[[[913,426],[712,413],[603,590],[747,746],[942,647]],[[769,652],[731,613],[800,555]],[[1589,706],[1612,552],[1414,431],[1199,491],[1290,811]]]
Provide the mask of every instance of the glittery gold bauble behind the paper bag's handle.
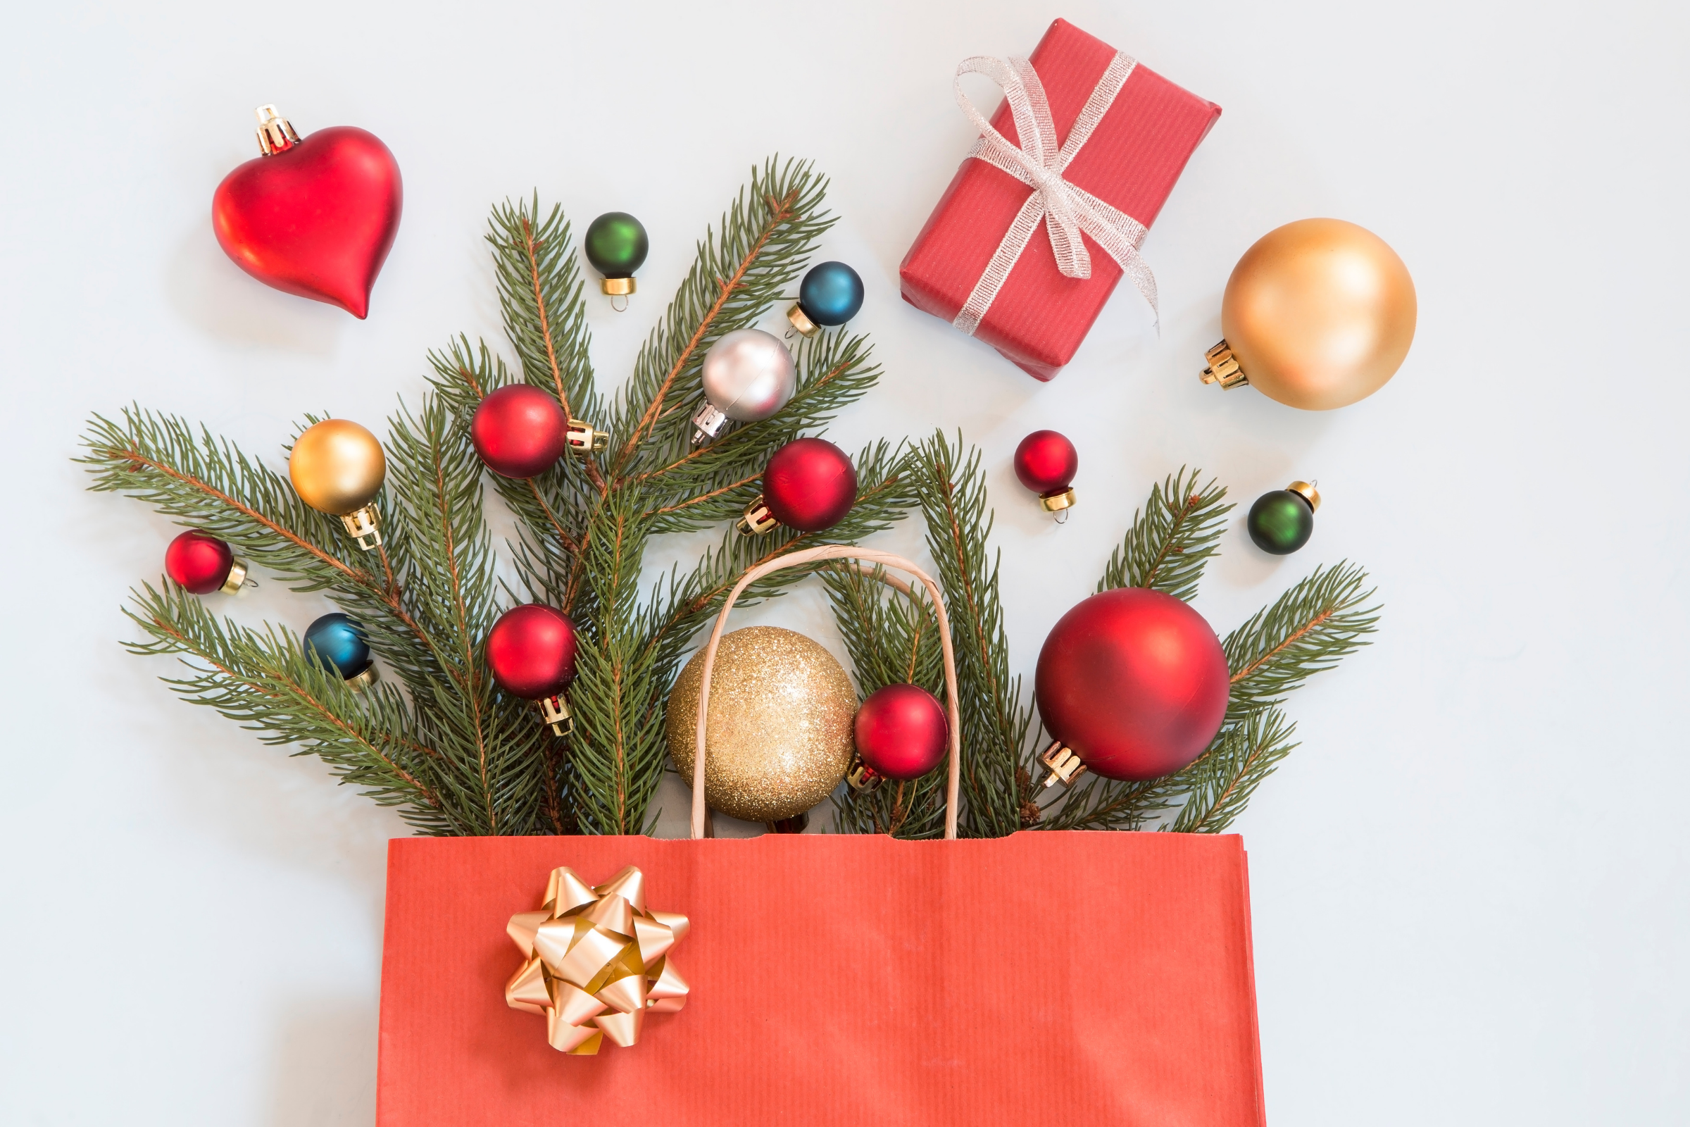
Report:
[[[681,669],[664,720],[669,755],[693,782],[705,651]],[[723,634],[710,678],[705,803],[730,818],[804,813],[850,769],[857,691],[833,654],[803,634],[745,627]]]

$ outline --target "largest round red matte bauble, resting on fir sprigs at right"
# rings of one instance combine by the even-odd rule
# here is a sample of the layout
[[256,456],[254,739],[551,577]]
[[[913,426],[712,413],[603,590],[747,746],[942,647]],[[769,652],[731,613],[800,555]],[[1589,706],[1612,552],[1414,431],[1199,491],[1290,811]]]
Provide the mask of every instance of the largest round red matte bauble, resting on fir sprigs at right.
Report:
[[1227,715],[1227,656],[1173,595],[1120,588],[1063,615],[1039,651],[1033,693],[1053,737],[1109,779],[1188,765]]

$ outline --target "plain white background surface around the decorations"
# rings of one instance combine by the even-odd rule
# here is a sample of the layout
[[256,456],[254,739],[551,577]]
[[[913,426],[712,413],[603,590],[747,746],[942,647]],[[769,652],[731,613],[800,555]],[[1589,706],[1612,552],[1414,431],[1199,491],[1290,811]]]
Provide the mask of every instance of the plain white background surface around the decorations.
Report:
[[[831,174],[823,250],[867,280],[886,365],[833,436],[984,448],[1014,669],[1185,463],[1246,505],[1293,476],[1325,495],[1286,559],[1234,520],[1198,602],[1218,630],[1317,563],[1371,568],[1377,642],[1295,698],[1303,745],[1237,826],[1271,1119],[1690,1120],[1682,5],[22,7],[0,35],[0,1120],[373,1119],[404,826],[118,649],[123,591],[174,531],[81,492],[83,419],[139,399],[275,466],[306,411],[380,429],[448,335],[509,355],[482,231],[534,188],[651,230],[634,311],[590,308],[615,382],[776,150]],[[1144,247],[1161,336],[1122,287],[1043,385],[902,304],[896,274],[970,140],[957,61],[1026,52],[1056,15],[1225,115]],[[368,321],[264,289],[213,240],[264,101],[303,132],[370,128],[404,169]],[[1311,215],[1408,262],[1408,363],[1333,414],[1202,387],[1234,260]],[[1009,473],[1043,426],[1082,455],[1060,531]],[[804,600],[764,617],[825,637]],[[228,607],[324,610],[277,585]]]

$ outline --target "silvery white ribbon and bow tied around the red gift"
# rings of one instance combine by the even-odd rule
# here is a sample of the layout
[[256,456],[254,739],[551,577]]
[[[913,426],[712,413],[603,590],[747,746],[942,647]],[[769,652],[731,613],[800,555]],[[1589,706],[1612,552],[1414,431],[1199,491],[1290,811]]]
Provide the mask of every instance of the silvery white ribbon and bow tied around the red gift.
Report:
[[[973,56],[957,66],[953,81],[957,105],[980,130],[980,140],[968,150],[968,157],[985,161],[1033,189],[1028,201],[1021,204],[1016,221],[1009,225],[1009,231],[997,245],[985,274],[975,282],[968,301],[951,321],[963,333],[972,336],[980,326],[985,311],[997,297],[997,291],[1004,287],[1009,272],[1021,259],[1021,252],[1028,248],[1034,231],[1038,231],[1039,220],[1049,231],[1051,250],[1056,252],[1056,269],[1065,277],[1092,277],[1092,255],[1085,248],[1085,240],[1080,238],[1080,231],[1085,231],[1110,259],[1120,264],[1122,272],[1132,279],[1137,291],[1144,294],[1144,301],[1151,304],[1151,311],[1156,311],[1156,279],[1139,257],[1139,243],[1144,242],[1146,226],[1063,179],[1063,172],[1092,137],[1097,123],[1109,113],[1109,106],[1126,86],[1134,66],[1137,64],[1131,57],[1119,52],[1109,61],[1109,69],[1097,79],[1097,88],[1085,100],[1085,108],[1080,110],[1073,128],[1068,130],[1068,140],[1061,145],[1056,144],[1056,125],[1051,122],[1051,108],[1044,100],[1044,84],[1028,59],[1011,56],[1006,63],[990,56]],[[968,95],[962,91],[963,74],[985,74],[1004,88],[1004,98],[1016,120],[1016,135],[1021,139],[1019,147],[1009,144],[968,101]]]

